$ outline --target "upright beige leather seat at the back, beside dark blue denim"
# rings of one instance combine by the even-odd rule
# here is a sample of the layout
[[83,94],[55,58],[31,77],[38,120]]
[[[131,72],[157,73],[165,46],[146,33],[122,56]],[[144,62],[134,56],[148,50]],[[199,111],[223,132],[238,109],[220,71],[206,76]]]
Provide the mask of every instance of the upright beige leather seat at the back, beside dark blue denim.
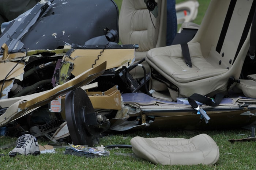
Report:
[[[144,0],[123,0],[119,16],[119,36],[122,44],[138,44],[135,50],[135,62],[146,57],[148,50],[166,46],[166,0],[156,0],[158,17],[155,18],[147,9]],[[155,26],[155,28],[154,28]],[[150,69],[142,63],[147,73]],[[142,78],[143,69],[136,67],[130,72],[133,78]]]

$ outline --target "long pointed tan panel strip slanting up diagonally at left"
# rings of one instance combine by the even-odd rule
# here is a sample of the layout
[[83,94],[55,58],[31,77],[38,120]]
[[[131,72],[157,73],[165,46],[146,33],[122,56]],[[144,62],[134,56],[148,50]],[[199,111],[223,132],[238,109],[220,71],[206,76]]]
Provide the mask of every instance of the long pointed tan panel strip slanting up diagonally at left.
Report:
[[89,69],[72,80],[64,83],[63,85],[56,86],[52,90],[41,93],[35,93],[30,96],[24,97],[22,100],[12,104],[3,115],[0,116],[0,126],[3,126],[13,120],[26,115],[30,110],[38,108],[42,105],[48,104],[55,98],[62,96],[72,89],[81,87],[98,76],[100,76],[106,68],[106,62],[101,65]]

